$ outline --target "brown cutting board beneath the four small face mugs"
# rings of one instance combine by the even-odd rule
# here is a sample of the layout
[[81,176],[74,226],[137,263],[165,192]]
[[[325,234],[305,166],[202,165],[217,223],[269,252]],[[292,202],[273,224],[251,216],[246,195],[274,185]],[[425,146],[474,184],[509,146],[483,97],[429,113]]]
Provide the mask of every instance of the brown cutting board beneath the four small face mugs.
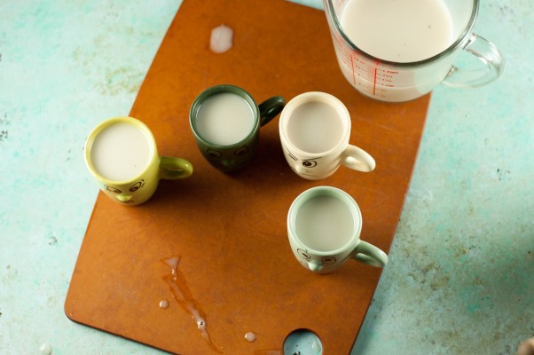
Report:
[[[209,36],[220,24],[233,28],[233,48],[215,54]],[[349,108],[350,143],[373,155],[376,170],[297,177],[282,154],[278,117],[262,128],[246,170],[215,170],[194,144],[188,113],[200,91],[220,83],[241,86],[258,102],[333,94]],[[98,195],[67,294],[68,318],[184,355],[281,354],[287,335],[301,328],[318,335],[324,354],[348,354],[381,269],[349,261],[332,274],[307,272],[289,248],[287,210],[312,186],[342,188],[362,210],[362,239],[388,251],[428,99],[387,104],[357,94],[337,66],[323,12],[281,0],[185,0],[130,115],[153,130],[161,155],[192,162],[193,175],[162,180],[139,207]],[[180,257],[174,283],[161,262],[171,256]]]

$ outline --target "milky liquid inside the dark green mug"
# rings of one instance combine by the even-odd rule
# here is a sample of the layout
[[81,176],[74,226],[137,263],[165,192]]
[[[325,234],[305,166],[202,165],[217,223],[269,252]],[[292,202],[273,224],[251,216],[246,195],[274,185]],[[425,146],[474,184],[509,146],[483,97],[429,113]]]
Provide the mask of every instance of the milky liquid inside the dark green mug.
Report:
[[200,105],[196,128],[208,142],[229,146],[248,136],[254,128],[254,111],[246,99],[223,92],[213,95]]

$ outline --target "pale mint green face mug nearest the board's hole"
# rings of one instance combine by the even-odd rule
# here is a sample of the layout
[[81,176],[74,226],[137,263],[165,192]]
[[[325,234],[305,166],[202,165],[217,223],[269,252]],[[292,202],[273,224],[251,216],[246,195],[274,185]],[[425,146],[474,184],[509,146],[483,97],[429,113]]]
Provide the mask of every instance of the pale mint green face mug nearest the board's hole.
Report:
[[294,257],[310,272],[334,272],[349,259],[384,267],[388,256],[360,240],[362,214],[338,188],[316,186],[294,199],[287,213],[287,236]]

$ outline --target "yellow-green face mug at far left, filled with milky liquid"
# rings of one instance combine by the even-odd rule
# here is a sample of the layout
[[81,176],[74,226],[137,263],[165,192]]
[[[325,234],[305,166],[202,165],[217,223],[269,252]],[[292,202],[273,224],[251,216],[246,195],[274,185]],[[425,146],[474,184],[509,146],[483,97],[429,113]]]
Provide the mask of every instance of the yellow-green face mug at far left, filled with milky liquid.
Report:
[[178,179],[192,174],[191,162],[158,155],[151,130],[132,117],[100,122],[85,141],[84,155],[100,189],[126,205],[150,199],[161,178]]

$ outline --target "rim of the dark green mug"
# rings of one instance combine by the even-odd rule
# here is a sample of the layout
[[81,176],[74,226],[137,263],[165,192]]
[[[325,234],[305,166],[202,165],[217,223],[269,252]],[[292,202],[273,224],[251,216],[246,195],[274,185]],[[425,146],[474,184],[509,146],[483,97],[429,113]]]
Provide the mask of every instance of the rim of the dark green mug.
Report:
[[[206,138],[203,138],[199,134],[199,132],[197,132],[196,125],[194,124],[196,122],[193,122],[193,121],[196,120],[196,117],[197,117],[197,115],[199,113],[200,106],[202,106],[202,103],[204,103],[204,101],[206,101],[210,97],[212,97],[212,96],[214,96],[216,94],[220,94],[220,93],[232,93],[232,94],[235,94],[235,95],[239,95],[241,98],[243,98],[243,99],[245,99],[247,101],[247,103],[250,106],[250,108],[252,108],[252,111],[253,111],[253,114],[254,114],[254,117],[253,117],[254,122],[252,124],[253,129],[250,130],[250,132],[248,132],[248,134],[247,134],[247,136],[245,138],[241,139],[238,142],[232,143],[231,145],[219,145],[219,144],[216,144],[216,143],[209,142]],[[195,120],[193,120],[193,115],[195,117]],[[191,105],[191,108],[189,110],[189,126],[191,128],[191,131],[192,131],[192,134],[193,134],[194,138],[196,140],[200,141],[203,145],[213,146],[213,147],[215,147],[217,149],[220,149],[220,150],[232,150],[232,149],[235,149],[236,147],[242,146],[243,143],[245,143],[247,140],[249,140],[250,138],[255,136],[255,134],[259,131],[259,128],[260,128],[260,108],[259,108],[257,102],[255,101],[255,99],[252,97],[252,95],[250,95],[250,93],[248,91],[246,91],[245,89],[241,88],[240,86],[236,86],[236,85],[232,85],[232,84],[219,84],[219,85],[210,86],[208,89],[200,92],[200,94],[197,95],[197,97],[192,101],[192,105]]]

